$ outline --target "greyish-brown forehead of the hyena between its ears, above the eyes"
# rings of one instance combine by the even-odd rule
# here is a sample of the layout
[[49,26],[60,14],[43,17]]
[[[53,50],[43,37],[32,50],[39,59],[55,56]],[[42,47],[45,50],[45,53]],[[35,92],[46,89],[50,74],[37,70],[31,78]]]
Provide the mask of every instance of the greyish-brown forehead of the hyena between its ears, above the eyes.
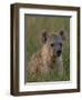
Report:
[[48,42],[49,43],[60,43],[60,42],[62,42],[62,38],[61,38],[61,36],[59,36],[59,34],[50,34],[49,37],[48,37]]

